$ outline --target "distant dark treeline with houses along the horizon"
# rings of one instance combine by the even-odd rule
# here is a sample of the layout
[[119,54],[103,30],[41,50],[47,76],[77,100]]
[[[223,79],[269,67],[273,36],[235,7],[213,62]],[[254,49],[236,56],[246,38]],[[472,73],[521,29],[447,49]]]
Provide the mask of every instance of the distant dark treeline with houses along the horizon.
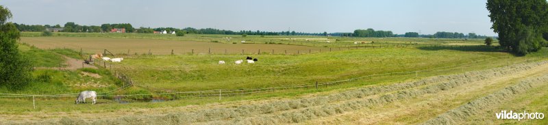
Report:
[[98,32],[110,32],[111,29],[118,29],[118,28],[125,28],[125,31],[127,33],[154,33],[154,31],[166,31],[167,33],[171,33],[172,31],[183,31],[184,33],[190,33],[190,34],[225,34],[225,35],[261,35],[261,36],[342,36],[342,37],[358,37],[358,38],[386,38],[386,37],[406,37],[406,38],[486,38],[486,36],[477,36],[475,33],[468,33],[468,35],[464,35],[464,33],[452,33],[452,32],[445,32],[445,31],[438,31],[434,35],[430,34],[419,34],[416,32],[407,32],[405,34],[394,34],[392,31],[375,31],[374,29],[356,29],[353,33],[303,33],[303,32],[296,32],[296,31],[231,31],[231,30],[224,30],[224,29],[213,29],[213,28],[206,28],[206,29],[195,29],[192,27],[187,27],[184,29],[177,29],[173,27],[158,27],[158,28],[150,28],[150,27],[139,27],[139,29],[135,29],[132,27],[129,23],[119,23],[119,24],[103,24],[101,26],[87,26],[87,25],[77,25],[73,22],[65,23],[61,27],[61,25],[25,25],[25,24],[17,24],[17,29],[19,31],[45,31],[49,28],[55,28],[55,29],[61,29],[58,31],[62,32],[90,32],[90,33],[98,33]]

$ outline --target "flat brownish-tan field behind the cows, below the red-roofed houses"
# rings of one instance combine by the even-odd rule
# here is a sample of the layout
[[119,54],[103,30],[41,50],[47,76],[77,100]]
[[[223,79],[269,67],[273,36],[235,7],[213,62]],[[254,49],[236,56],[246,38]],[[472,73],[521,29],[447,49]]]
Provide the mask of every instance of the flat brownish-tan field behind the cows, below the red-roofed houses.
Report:
[[[193,42],[193,41],[175,41],[175,40],[154,40],[154,39],[137,39],[137,38],[101,38],[101,37],[23,37],[21,42],[34,45],[38,48],[71,48],[79,51],[82,48],[84,53],[103,53],[107,49],[114,54],[142,55],[148,54],[149,51],[153,55],[169,55],[173,49],[174,54],[192,53],[211,53],[212,54],[240,54],[243,53],[258,53],[259,50],[266,53],[308,53],[310,50],[329,51],[329,48],[314,47],[314,46],[296,46],[286,44],[241,44],[240,40],[236,40],[237,44],[225,44],[217,42]],[[300,52],[297,52],[300,51]]]

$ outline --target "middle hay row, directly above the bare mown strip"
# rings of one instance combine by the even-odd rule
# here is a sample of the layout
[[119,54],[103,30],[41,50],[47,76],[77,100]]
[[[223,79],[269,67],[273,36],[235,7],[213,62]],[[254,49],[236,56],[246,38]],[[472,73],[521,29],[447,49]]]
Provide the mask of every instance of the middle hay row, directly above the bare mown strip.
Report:
[[[536,65],[536,64],[534,64]],[[513,67],[513,66],[510,66]],[[530,69],[532,67],[516,67],[514,70],[501,70],[500,72],[469,72],[462,76],[463,78],[460,81],[447,81],[444,83],[436,85],[427,85],[425,87],[406,89],[399,92],[394,92],[392,94],[386,94],[379,96],[379,98],[369,98],[369,99],[358,99],[343,102],[340,104],[334,105],[323,105],[321,107],[310,107],[306,109],[301,109],[297,111],[291,111],[280,114],[268,114],[260,115],[258,117],[247,117],[245,119],[236,119],[232,120],[232,123],[228,124],[285,124],[285,123],[298,123],[306,120],[312,120],[318,117],[325,117],[329,115],[334,115],[338,113],[343,113],[345,111],[355,111],[362,109],[364,107],[373,107],[377,105],[383,105],[396,100],[404,100],[408,98],[413,98],[423,94],[434,94],[440,91],[448,90],[460,85],[465,85],[466,83],[473,83],[475,81],[481,81],[493,77],[500,77],[504,74],[510,74],[512,72],[508,71],[519,71],[520,69]],[[479,73],[479,74],[478,74]],[[475,76],[475,77],[472,77]],[[344,96],[340,96],[341,98]],[[214,124],[225,123],[223,121],[216,121]]]

